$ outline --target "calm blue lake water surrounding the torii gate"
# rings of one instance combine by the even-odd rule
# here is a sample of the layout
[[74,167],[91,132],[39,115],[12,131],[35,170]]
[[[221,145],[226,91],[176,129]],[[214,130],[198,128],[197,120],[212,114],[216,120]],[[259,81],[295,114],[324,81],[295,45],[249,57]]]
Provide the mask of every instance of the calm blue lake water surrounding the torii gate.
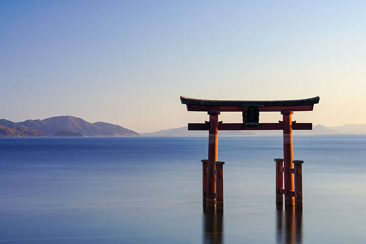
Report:
[[247,136],[219,137],[215,213],[207,137],[0,138],[0,243],[364,243],[366,136],[293,144],[302,210],[276,207],[282,136]]

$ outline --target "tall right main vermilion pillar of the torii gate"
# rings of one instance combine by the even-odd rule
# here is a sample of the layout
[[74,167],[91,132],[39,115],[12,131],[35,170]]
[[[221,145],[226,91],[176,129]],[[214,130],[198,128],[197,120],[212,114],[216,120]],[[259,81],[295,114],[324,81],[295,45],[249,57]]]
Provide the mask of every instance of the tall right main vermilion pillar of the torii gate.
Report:
[[294,190],[293,176],[289,172],[293,163],[292,152],[292,114],[293,111],[282,111],[283,115],[283,140],[284,140],[284,184],[285,184],[285,205],[294,205],[294,198],[290,196],[290,191]]

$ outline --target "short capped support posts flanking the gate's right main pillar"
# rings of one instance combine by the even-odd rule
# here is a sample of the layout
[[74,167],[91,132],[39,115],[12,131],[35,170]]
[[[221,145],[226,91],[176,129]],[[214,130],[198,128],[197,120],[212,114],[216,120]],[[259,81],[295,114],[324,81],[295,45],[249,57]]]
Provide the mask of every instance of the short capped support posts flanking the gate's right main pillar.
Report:
[[303,161],[301,160],[294,160],[292,161],[294,167],[289,168],[288,172],[290,175],[291,181],[294,182],[294,191],[291,189],[288,191],[288,196],[286,196],[286,191],[283,186],[283,178],[285,169],[283,167],[283,159],[275,159],[276,161],[276,205],[282,206],[283,205],[283,195],[285,198],[294,198],[295,208],[302,208],[302,164]]

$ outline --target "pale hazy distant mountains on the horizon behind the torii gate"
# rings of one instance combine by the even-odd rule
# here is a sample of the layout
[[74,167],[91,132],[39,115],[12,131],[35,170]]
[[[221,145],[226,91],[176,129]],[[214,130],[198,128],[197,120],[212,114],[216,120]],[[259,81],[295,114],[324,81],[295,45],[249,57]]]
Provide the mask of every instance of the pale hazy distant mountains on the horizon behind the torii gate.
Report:
[[[337,127],[317,125],[311,131],[293,130],[294,135],[366,134],[366,124],[347,124]],[[188,131],[188,127],[141,133],[141,136],[204,136],[208,131]],[[282,131],[219,131],[219,136],[282,135]]]

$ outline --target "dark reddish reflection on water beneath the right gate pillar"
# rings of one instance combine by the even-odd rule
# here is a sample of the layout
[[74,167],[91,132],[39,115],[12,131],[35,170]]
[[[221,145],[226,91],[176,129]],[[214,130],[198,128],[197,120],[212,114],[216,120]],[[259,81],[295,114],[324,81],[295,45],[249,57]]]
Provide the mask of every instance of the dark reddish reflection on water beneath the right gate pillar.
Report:
[[302,243],[302,208],[277,206],[277,243]]

